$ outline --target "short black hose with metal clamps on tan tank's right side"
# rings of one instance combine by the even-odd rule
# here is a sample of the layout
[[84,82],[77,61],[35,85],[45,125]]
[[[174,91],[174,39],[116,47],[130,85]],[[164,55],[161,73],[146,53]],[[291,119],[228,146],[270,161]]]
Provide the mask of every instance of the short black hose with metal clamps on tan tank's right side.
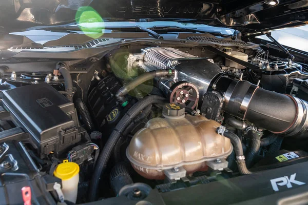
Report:
[[233,144],[233,148],[234,148],[235,156],[236,156],[236,162],[237,162],[240,174],[242,175],[251,174],[252,172],[250,172],[246,167],[242,142],[240,138],[233,132],[229,132],[228,130],[226,130],[224,126],[220,126],[219,128],[217,128],[216,131],[218,134],[229,138],[231,143]]

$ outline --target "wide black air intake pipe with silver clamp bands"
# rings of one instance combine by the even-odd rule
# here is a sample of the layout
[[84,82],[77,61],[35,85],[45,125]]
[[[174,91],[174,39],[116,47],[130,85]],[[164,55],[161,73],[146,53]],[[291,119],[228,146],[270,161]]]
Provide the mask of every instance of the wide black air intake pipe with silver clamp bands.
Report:
[[226,113],[248,120],[259,128],[297,137],[303,136],[308,129],[308,103],[302,99],[226,77],[218,80],[216,88],[227,88],[223,107]]

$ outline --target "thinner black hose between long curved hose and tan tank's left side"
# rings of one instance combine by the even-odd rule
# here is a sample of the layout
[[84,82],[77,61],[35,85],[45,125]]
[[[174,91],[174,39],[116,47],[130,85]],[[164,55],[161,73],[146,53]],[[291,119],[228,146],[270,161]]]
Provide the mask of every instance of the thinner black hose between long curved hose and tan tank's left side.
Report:
[[138,125],[144,118],[146,118],[149,115],[151,109],[152,105],[146,107],[139,115],[137,115],[137,117],[132,122],[130,122],[127,128],[123,131],[122,134],[123,137],[120,137],[117,143],[114,145],[113,158],[115,162],[119,162],[121,159],[120,148],[123,142],[125,141],[124,137],[126,137],[133,130],[133,128],[136,127],[136,125]]

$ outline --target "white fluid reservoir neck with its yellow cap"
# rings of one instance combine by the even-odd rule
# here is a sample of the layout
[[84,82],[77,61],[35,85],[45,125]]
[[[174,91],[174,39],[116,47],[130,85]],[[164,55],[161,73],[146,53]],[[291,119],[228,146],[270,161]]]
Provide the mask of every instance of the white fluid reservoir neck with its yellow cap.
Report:
[[76,202],[79,182],[79,165],[64,160],[53,172],[53,175],[62,179],[62,192],[65,200]]

